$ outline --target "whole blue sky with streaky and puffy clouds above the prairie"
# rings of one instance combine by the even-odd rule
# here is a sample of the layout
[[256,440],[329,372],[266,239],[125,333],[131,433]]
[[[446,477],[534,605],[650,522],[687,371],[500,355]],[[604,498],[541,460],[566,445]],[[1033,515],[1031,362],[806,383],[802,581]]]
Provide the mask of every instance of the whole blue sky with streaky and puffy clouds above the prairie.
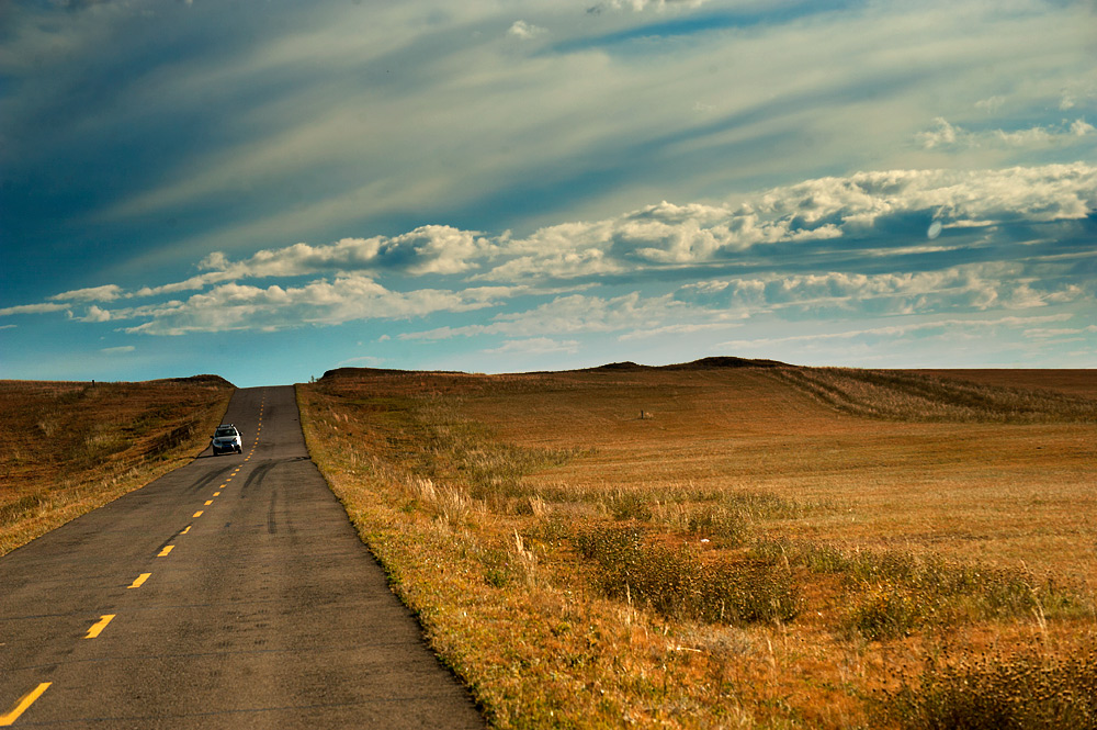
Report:
[[1095,368],[1095,0],[0,0],[0,379]]

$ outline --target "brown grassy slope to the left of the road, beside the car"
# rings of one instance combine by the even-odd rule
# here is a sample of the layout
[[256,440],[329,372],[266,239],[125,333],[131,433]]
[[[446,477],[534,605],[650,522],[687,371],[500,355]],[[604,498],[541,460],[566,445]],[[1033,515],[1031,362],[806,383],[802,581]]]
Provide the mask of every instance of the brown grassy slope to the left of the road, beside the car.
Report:
[[0,555],[179,467],[233,386],[0,381]]

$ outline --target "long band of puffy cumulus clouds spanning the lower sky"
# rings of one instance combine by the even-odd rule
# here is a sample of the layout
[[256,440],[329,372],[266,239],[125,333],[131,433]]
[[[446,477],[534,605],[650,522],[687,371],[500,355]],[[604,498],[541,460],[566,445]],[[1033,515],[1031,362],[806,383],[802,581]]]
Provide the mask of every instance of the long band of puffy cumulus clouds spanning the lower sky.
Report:
[[[960,240],[958,236],[969,235],[968,231],[983,236],[977,246],[984,254],[991,251],[985,255],[993,259],[996,237],[1016,246],[1011,234],[1002,233],[1010,225],[1029,232],[1047,224],[1053,240],[1067,224],[1081,231],[1078,226],[1086,225],[1095,210],[1097,167],[1083,162],[858,172],[772,188],[734,202],[664,201],[615,217],[542,227],[525,236],[430,225],[397,236],[298,243],[241,259],[213,252],[201,260],[199,273],[182,281],[128,292],[115,284],[78,289],[41,304],[0,308],[0,315],[69,311],[81,322],[143,319],[131,330],[178,335],[425,317],[490,307],[519,295],[554,297],[487,323],[409,335],[517,339],[573,332],[619,332],[633,338],[652,332],[688,334],[730,326],[736,317],[758,313],[891,316],[1022,310],[1071,304],[1094,292],[1082,287],[1077,276],[1062,274],[1068,268],[1065,261],[1054,265],[1058,269],[1047,268],[1053,266],[1047,256],[1040,259],[1045,267],[1041,270],[1032,268],[1036,263],[1009,261],[915,272],[857,269],[879,271],[885,257],[896,256],[947,260],[943,257],[955,246],[946,244]],[[905,234],[881,233],[881,226],[896,220],[906,221]],[[941,236],[932,245],[925,243],[927,225],[930,237]],[[787,273],[802,270],[800,245],[815,256],[817,272]],[[1033,261],[1048,250],[1034,248]],[[769,272],[724,279],[709,273],[713,266],[745,262],[755,269],[768,266]],[[576,293],[604,280],[636,282],[663,271],[692,278],[693,283],[658,296],[641,296],[638,291],[610,297]],[[326,278],[302,283],[317,274]],[[393,274],[404,281],[428,278],[429,285],[399,292],[380,283]],[[250,283],[259,279],[276,283]],[[489,282],[497,284],[480,285]],[[197,293],[183,301],[109,306],[181,292]],[[90,304],[83,316],[71,313],[73,303],[91,302],[97,304]]]

